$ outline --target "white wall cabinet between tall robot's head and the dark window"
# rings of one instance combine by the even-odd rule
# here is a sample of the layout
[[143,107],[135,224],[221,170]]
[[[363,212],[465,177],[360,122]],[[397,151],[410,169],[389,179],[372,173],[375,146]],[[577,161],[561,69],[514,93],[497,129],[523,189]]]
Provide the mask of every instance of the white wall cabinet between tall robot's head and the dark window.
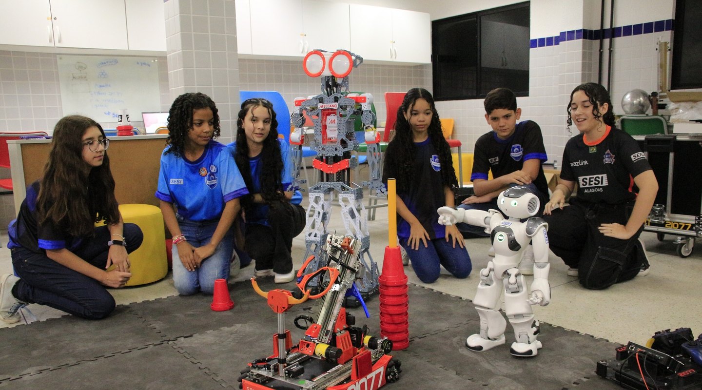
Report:
[[364,60],[431,62],[428,13],[351,4],[350,20],[351,51]]

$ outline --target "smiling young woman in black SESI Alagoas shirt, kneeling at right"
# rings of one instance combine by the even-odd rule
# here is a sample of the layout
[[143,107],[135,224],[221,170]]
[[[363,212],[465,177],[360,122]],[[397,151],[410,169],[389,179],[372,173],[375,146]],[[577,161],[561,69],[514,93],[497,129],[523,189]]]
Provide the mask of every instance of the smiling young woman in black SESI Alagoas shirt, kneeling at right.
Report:
[[[639,144],[614,127],[607,89],[584,83],[571,93],[563,168],[543,211],[549,247],[585,288],[600,290],[649,272],[638,239],[658,193],[658,182]],[[570,199],[578,183],[578,196]],[[639,189],[636,194],[633,184]]]

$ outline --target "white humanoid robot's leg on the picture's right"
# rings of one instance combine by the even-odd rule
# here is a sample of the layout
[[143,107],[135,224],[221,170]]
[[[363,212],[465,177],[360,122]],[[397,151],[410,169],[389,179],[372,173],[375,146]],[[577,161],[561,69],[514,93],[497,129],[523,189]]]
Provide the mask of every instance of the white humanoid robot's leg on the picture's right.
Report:
[[539,331],[538,321],[529,304],[529,289],[524,276],[518,269],[505,272],[505,312],[515,331],[516,341],[510,347],[513,356],[536,356],[541,342],[536,339]]

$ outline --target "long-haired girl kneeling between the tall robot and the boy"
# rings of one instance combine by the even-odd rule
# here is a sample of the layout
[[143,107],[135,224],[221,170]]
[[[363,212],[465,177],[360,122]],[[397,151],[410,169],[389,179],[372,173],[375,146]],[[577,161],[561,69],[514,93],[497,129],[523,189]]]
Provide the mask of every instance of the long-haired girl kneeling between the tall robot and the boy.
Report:
[[440,266],[456,278],[467,278],[472,265],[461,232],[438,222],[439,207],[455,206],[458,181],[428,90],[412,88],[404,96],[384,159],[383,182],[394,177],[397,184],[399,243],[420,281],[435,282]]

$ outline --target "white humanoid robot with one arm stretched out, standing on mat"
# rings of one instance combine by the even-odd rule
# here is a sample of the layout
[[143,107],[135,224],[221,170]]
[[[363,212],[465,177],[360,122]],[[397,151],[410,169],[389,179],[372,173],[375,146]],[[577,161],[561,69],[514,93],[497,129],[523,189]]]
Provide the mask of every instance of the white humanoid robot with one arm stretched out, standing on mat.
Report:
[[[491,233],[495,258],[480,270],[480,283],[475,294],[475,309],[480,316],[480,333],[470,335],[465,346],[471,351],[487,351],[505,344],[507,323],[499,311],[500,295],[505,292],[505,313],[515,331],[516,341],[510,347],[514,356],[536,356],[541,342],[536,339],[539,324],[534,318],[533,304],[546,306],[551,299],[548,283],[548,224],[534,217],[538,211],[538,197],[527,187],[511,187],[497,199],[500,210],[508,215],[505,220],[498,211],[456,210],[439,208],[439,224],[466,222],[485,227]],[[529,218],[526,222],[520,222]],[[531,294],[526,280],[517,266],[529,242],[534,247],[534,281]]]

